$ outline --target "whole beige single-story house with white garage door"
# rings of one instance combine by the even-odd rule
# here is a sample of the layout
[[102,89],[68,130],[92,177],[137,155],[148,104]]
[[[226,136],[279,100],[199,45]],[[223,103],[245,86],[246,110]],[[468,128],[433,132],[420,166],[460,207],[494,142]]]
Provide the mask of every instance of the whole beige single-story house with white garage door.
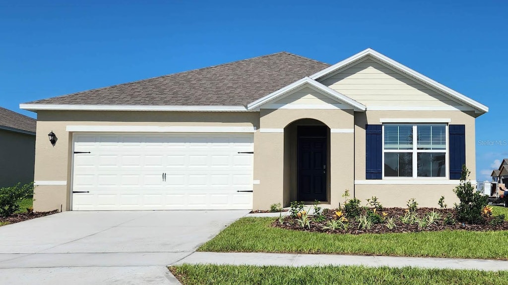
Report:
[[336,207],[346,189],[362,204],[452,205],[463,164],[475,181],[474,120],[488,112],[371,49],[334,65],[280,52],[21,108],[38,113],[37,210]]

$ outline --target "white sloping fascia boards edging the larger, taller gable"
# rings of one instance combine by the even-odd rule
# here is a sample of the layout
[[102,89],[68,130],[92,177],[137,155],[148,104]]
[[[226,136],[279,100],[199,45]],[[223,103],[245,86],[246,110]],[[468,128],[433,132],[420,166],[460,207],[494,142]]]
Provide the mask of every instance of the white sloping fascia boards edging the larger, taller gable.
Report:
[[321,70],[320,72],[317,72],[317,73],[311,75],[310,78],[313,80],[323,78],[323,77],[325,77],[331,73],[334,73],[337,70],[339,70],[349,64],[352,64],[360,59],[363,59],[364,57],[369,56],[369,55],[384,64],[394,67],[399,72],[406,74],[414,79],[417,79],[417,80],[423,82],[424,84],[430,85],[431,87],[436,88],[438,91],[444,92],[444,93],[450,95],[452,98],[455,98],[455,99],[473,107],[477,113],[483,114],[483,113],[489,112],[489,108],[486,105],[484,105],[478,101],[475,101],[475,100],[473,100],[473,99],[471,99],[471,98],[469,98],[469,97],[467,97],[467,96],[465,96],[465,95],[463,95],[463,94],[461,94],[449,87],[446,87],[446,86],[440,84],[439,82],[436,82],[436,81],[416,72],[415,70],[413,70],[413,69],[411,69],[411,68],[383,55],[383,54],[380,54],[370,48],[366,49],[364,51],[361,51],[349,58],[346,58],[346,59],[328,67],[328,68],[325,68],[325,69]]

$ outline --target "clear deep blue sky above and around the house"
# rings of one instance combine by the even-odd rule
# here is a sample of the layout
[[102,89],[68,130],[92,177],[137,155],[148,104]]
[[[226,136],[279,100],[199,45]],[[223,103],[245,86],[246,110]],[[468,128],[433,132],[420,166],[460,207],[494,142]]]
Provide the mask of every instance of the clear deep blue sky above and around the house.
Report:
[[[4,1],[0,105],[278,51],[336,63],[371,47],[486,104],[477,177],[508,158],[505,1]],[[479,140],[484,141],[482,145]]]

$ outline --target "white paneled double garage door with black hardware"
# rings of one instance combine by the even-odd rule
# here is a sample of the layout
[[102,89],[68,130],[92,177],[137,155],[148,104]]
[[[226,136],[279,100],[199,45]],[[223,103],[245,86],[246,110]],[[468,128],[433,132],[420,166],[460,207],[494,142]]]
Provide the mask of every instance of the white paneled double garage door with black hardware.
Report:
[[74,134],[72,209],[251,209],[252,151],[252,134]]

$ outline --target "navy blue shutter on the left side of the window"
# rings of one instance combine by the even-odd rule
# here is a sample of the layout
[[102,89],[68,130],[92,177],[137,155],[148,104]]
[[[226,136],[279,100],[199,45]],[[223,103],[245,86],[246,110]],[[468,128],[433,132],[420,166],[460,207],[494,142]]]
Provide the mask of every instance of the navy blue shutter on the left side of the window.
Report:
[[382,179],[382,125],[366,125],[365,179]]

